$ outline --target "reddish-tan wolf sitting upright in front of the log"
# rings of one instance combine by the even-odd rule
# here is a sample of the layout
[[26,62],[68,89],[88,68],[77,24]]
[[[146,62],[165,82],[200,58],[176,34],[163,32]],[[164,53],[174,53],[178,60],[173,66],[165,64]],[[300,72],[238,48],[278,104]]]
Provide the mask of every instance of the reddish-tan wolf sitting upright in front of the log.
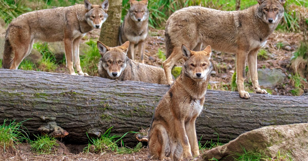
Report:
[[148,135],[149,153],[156,159],[199,155],[195,122],[203,108],[212,70],[211,47],[194,52],[183,44],[181,50],[184,67],[155,108]]

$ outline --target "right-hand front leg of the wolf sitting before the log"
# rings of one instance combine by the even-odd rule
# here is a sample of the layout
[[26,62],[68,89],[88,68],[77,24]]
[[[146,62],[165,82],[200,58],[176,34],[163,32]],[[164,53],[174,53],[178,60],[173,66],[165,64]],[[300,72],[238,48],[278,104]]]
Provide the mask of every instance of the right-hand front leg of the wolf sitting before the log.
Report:
[[[197,118],[197,117],[196,117]],[[193,155],[199,155],[199,145],[197,140],[197,134],[196,134],[196,126],[195,121],[196,118],[193,118],[185,125],[185,131],[188,136],[189,144],[191,147],[191,151],[193,152]]]

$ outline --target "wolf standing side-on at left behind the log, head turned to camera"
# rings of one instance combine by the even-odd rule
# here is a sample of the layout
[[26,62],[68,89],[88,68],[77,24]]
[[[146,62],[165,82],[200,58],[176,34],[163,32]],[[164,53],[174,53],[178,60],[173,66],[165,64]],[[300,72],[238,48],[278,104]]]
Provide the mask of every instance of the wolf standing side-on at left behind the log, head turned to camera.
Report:
[[[2,67],[17,69],[22,60],[31,52],[34,40],[64,41],[67,68],[71,75],[83,73],[79,59],[79,41],[92,29],[101,28],[107,19],[109,2],[92,5],[58,7],[25,13],[13,20],[6,30]],[[14,58],[11,59],[11,54]]]

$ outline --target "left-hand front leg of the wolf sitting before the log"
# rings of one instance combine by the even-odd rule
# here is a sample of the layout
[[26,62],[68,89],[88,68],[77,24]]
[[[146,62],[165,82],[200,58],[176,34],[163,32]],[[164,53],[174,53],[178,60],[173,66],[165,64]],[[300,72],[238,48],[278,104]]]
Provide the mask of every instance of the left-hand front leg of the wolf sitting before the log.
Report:
[[184,120],[175,119],[174,122],[175,122],[176,135],[179,137],[182,144],[183,157],[184,158],[192,157],[193,155],[191,153],[190,144],[188,142],[188,137],[186,135]]

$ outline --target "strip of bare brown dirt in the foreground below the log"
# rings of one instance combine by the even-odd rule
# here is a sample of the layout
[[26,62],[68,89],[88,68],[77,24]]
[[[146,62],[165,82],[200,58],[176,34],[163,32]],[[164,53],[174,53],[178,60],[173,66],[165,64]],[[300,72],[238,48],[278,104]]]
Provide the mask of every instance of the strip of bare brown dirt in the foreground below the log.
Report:
[[[63,143],[58,143],[60,146],[54,154],[34,153],[30,150],[30,144],[20,144],[16,150],[10,149],[6,153],[0,152],[0,161],[156,161],[148,158],[148,148],[145,147],[133,154],[116,154],[114,152],[73,154]],[[184,159],[183,161],[192,161],[198,158]]]

